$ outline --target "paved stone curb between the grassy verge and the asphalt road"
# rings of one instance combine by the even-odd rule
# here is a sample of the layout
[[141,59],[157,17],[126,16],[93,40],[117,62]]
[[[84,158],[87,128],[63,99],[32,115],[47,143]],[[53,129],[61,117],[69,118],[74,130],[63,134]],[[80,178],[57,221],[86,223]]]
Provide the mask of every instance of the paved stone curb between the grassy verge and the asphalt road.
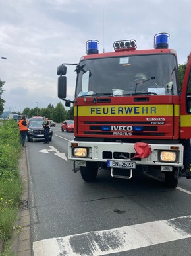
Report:
[[26,160],[26,148],[22,148],[19,159],[20,175],[22,176],[23,194],[15,226],[22,227],[20,232],[13,233],[11,252],[16,256],[32,256],[30,241],[30,211],[28,208],[28,168]]

